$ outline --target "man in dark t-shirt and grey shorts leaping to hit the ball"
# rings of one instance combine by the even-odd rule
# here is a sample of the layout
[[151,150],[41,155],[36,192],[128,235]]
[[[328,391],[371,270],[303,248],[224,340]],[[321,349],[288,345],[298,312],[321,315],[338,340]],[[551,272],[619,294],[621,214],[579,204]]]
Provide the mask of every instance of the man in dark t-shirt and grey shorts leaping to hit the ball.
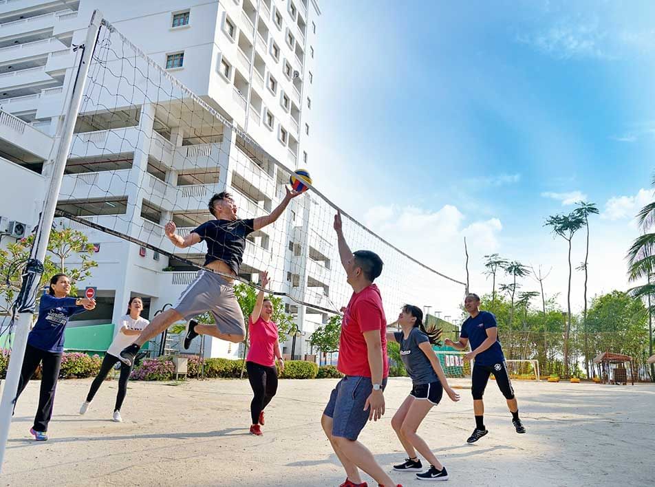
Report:
[[[155,316],[136,341],[120,352],[120,360],[131,365],[141,345],[176,321],[182,320],[189,323],[184,338],[185,349],[188,349],[191,340],[200,334],[233,343],[242,342],[246,338],[246,329],[244,315],[235,296],[233,278],[239,274],[239,266],[246,249],[246,237],[272,224],[280,217],[291,199],[300,194],[287,186],[284,199],[270,215],[238,219],[237,205],[230,193],[218,193],[211,197],[208,205],[214,219],[198,226],[186,237],[176,234],[175,224],[169,221],[164,230],[176,247],[187,248],[201,241],[206,242],[204,267],[210,270],[198,271],[193,282],[180,294],[177,303]],[[215,325],[198,325],[195,321],[189,321],[194,316],[206,312],[213,314]]]

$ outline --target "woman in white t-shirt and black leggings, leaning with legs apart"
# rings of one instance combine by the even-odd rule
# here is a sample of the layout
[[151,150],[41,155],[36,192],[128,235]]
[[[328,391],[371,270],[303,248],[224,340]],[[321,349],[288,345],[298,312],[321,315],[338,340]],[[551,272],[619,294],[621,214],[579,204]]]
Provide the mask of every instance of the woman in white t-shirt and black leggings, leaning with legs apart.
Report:
[[[120,362],[118,354],[120,351],[130,345],[134,341],[134,337],[141,333],[141,330],[148,325],[149,321],[141,317],[141,312],[143,310],[143,301],[139,297],[133,297],[129,300],[127,305],[127,314],[120,318],[120,328],[118,333],[114,336],[114,341],[109,345],[107,349],[107,354],[103,360],[103,365],[100,367],[98,376],[94,379],[87,394],[87,400],[83,402],[82,407],[80,407],[80,414],[84,414],[89,409],[89,404],[93,400],[96,392],[100,389],[100,385],[103,383],[103,380],[107,378],[107,374],[114,365]],[[125,399],[125,394],[127,393],[127,381],[129,380],[129,374],[131,374],[132,367],[125,365],[120,362],[120,378],[118,379],[118,393],[116,394],[116,406],[114,407],[114,421],[121,422],[122,418],[120,417],[120,407],[122,402]]]

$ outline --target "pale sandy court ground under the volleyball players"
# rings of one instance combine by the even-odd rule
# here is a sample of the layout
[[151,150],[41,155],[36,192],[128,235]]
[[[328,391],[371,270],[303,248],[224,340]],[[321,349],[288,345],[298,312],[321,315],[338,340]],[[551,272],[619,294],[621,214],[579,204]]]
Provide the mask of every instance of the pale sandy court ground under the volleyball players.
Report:
[[[130,382],[120,424],[111,422],[116,380],[105,382],[86,415],[78,414],[90,382],[59,382],[43,443],[28,433],[39,388],[30,382],[14,416],[3,484],[339,486],[345,479],[319,424],[336,380],[281,380],[263,437],[248,434],[245,380]],[[390,420],[409,384],[389,379],[385,418],[360,436],[388,470],[405,458]],[[466,444],[475,425],[469,389],[460,389],[458,403],[444,395],[429,413],[419,432],[447,466],[447,485],[652,485],[655,385],[514,386],[526,435],[515,433],[493,381],[485,396],[490,433],[477,444]],[[391,477],[405,487],[425,484],[411,473]]]

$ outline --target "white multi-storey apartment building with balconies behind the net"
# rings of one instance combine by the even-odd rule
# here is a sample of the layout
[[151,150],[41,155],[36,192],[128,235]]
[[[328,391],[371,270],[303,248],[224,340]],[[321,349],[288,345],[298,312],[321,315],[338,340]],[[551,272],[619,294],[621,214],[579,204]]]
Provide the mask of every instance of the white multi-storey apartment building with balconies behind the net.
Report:
[[[22,236],[21,226],[10,222],[24,224],[29,233],[38,219],[53,136],[74,74],[73,48],[83,43],[96,8],[273,158],[292,169],[311,169],[305,147],[312,134],[313,43],[321,16],[316,0],[0,0],[1,246]],[[198,136],[176,125],[162,109],[165,101],[108,104],[104,114],[89,107],[92,118],[80,113],[62,209],[95,215],[88,217],[176,252],[163,237],[163,224],[173,219],[184,233],[206,221],[206,201],[215,192],[234,193],[241,217],[277,206],[286,176],[274,164],[230,128]],[[109,160],[107,153],[120,158]],[[190,159],[204,171],[187,171],[182,161]],[[211,170],[212,161],[222,169]],[[107,203],[107,192],[120,197]],[[113,209],[98,212],[100,200]],[[250,237],[244,277],[255,279],[261,263],[270,262],[275,281],[286,282],[286,291],[299,299],[310,290],[312,296],[328,294],[336,245],[308,229],[309,206],[292,202],[275,225]],[[195,275],[190,266],[150,249],[67,219],[57,223],[83,230],[98,248],[93,258],[99,267],[79,284],[98,288],[98,307],[71,326],[117,323],[130,296],[142,296],[144,315],[152,318]],[[271,241],[288,241],[286,255],[271,252]],[[204,244],[196,247],[185,257],[202,261]],[[295,354],[309,353],[306,341],[327,315],[292,303],[288,310],[297,314],[301,330]],[[206,356],[237,355],[233,344],[206,340]],[[283,353],[290,354],[290,345],[284,344]]]

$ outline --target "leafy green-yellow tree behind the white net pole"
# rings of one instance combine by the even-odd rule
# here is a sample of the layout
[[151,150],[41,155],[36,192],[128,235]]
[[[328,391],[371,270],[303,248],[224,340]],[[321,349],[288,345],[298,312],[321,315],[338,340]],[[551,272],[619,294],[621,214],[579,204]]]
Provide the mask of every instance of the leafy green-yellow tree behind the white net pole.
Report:
[[[10,314],[12,302],[21,289],[21,271],[30,258],[34,235],[10,243],[6,250],[0,250],[0,314]],[[53,229],[47,243],[47,253],[43,262],[43,283],[50,282],[54,274],[63,272],[71,281],[71,294],[77,294],[76,283],[91,277],[91,269],[98,263],[91,259],[93,243],[87,236],[72,228]],[[66,262],[76,255],[81,263],[67,267]],[[37,299],[40,295],[37,296]]]

